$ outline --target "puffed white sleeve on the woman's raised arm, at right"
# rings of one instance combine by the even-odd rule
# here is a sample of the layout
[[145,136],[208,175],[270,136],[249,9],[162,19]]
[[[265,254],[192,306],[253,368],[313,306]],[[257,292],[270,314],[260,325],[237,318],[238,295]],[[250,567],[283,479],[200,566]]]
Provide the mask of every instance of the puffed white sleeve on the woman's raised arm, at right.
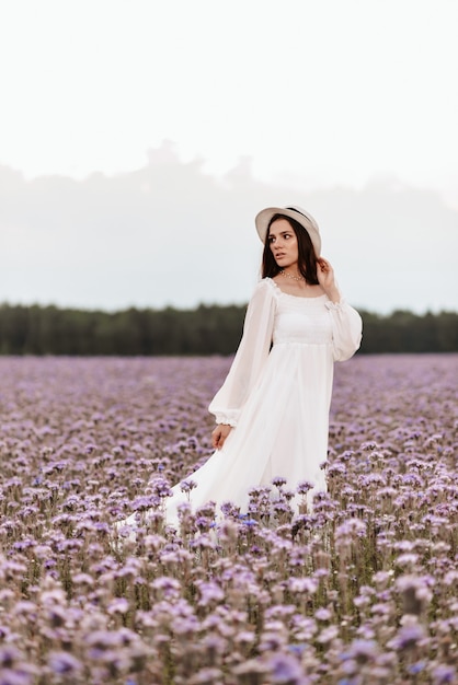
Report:
[[332,347],[334,361],[345,361],[359,348],[363,320],[345,300],[327,302],[332,321]]

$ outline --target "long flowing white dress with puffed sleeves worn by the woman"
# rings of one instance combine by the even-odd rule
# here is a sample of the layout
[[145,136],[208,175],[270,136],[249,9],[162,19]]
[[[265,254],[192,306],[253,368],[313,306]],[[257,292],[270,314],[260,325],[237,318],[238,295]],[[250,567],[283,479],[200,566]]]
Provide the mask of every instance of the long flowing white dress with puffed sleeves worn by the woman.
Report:
[[[234,428],[190,480],[167,501],[167,521],[176,524],[178,507],[193,510],[214,501],[247,510],[249,490],[286,478],[289,489],[309,480],[324,490],[320,465],[327,460],[334,361],[352,357],[362,338],[359,314],[327,295],[304,298],[261,280],[250,300],[243,336],[229,374],[209,405],[218,423]],[[123,523],[134,524],[135,515]]]

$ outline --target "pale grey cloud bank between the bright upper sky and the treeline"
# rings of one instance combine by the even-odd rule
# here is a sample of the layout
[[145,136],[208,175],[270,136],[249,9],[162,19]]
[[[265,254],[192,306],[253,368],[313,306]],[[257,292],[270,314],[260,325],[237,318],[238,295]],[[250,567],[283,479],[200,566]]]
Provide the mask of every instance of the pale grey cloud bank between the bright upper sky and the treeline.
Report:
[[0,300],[119,309],[244,302],[264,206],[318,219],[323,254],[347,299],[373,311],[457,309],[458,211],[393,177],[362,190],[309,193],[262,184],[249,162],[221,181],[173,148],[136,172],[82,181],[0,173]]

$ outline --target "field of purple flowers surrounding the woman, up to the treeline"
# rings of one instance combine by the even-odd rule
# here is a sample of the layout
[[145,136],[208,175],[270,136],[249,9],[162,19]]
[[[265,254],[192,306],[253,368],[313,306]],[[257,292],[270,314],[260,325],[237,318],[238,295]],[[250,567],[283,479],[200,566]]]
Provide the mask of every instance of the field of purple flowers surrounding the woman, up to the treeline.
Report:
[[174,531],[229,363],[0,357],[0,685],[458,683],[458,356],[336,364],[312,510]]

